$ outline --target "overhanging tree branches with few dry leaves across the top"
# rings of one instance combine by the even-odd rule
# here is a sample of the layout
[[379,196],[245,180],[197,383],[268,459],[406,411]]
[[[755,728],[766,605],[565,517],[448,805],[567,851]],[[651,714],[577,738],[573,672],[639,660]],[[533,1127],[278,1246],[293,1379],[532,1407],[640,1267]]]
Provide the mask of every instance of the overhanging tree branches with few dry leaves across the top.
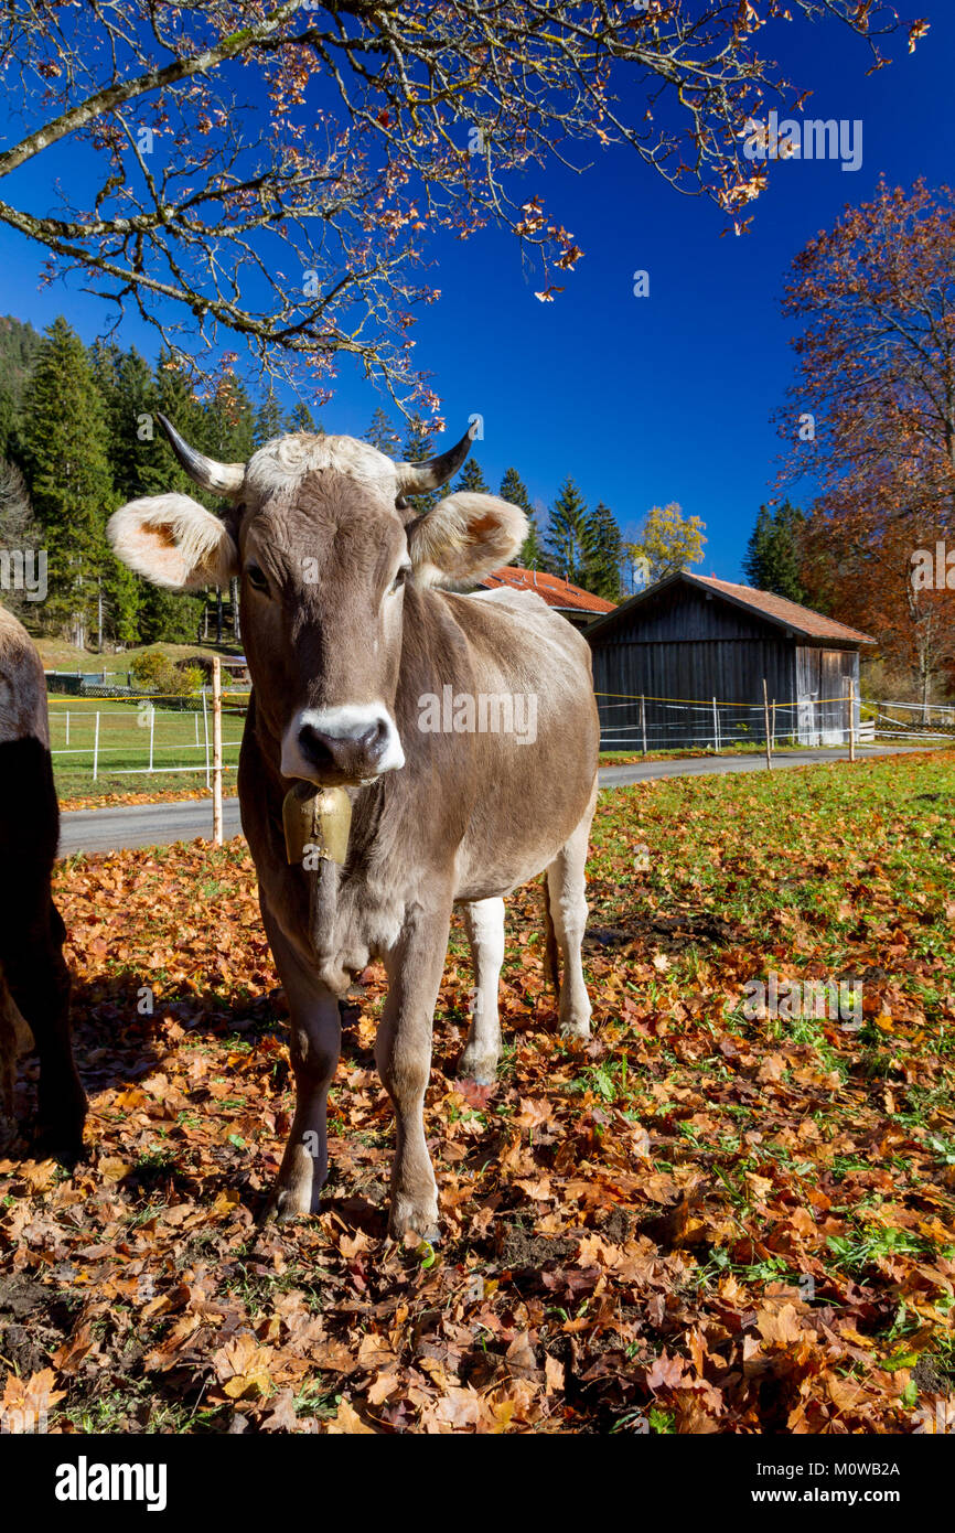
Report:
[[[766,20],[838,20],[884,58],[884,0],[11,0],[0,64],[18,143],[0,221],[132,305],[182,357],[236,339],[323,397],[337,353],[403,405],[435,235],[514,231],[550,300],[581,256],[529,178],[630,147],[734,227],[766,179],[740,149],[770,94]],[[911,44],[926,31],[911,23]],[[83,170],[71,173],[77,149]],[[49,166],[49,172],[46,170]],[[518,172],[521,173],[518,176]],[[58,205],[49,189],[58,184]],[[66,190],[64,190],[66,187]]]

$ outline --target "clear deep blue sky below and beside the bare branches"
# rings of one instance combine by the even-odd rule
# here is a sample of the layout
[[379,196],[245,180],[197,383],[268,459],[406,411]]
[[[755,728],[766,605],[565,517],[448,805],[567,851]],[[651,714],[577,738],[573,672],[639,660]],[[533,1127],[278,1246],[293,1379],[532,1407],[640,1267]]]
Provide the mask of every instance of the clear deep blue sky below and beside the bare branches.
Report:
[[[783,32],[782,63],[809,87],[805,112],[863,121],[863,162],[786,161],[754,204],[753,228],[720,238],[725,221],[702,198],[684,198],[622,150],[592,169],[527,176],[586,256],[553,304],[521,268],[517,244],[492,230],[431,247],[441,300],[415,327],[418,365],[434,374],[449,437],[484,417],[477,457],[492,487],[515,464],[532,500],[549,504],[564,475],[586,500],[612,506],[635,530],[655,503],[676,500],[702,517],[701,573],[740,576],[760,501],[773,494],[779,440],[770,412],[791,377],[791,322],[779,313],[789,262],[846,202],[871,196],[880,173],[911,185],[952,179],[947,118],[955,64],[955,6],[921,0],[932,31],[914,55],[866,77],[868,51],[835,26]],[[31,199],[32,201],[32,199]],[[37,205],[43,198],[37,199]],[[41,253],[0,233],[0,310],[48,325],[64,313],[86,340],[106,310],[78,285],[38,287]],[[633,271],[650,296],[633,296]],[[155,340],[130,323],[121,340],[147,354]],[[376,389],[343,373],[320,412],[330,431],[362,434]]]

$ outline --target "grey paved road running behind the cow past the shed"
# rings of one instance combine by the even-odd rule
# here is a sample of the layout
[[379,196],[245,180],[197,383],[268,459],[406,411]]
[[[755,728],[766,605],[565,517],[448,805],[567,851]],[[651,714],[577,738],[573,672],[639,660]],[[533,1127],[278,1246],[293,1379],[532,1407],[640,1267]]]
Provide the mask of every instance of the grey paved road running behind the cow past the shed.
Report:
[[[860,751],[861,756],[897,756],[906,745],[884,745]],[[848,751],[789,751],[774,757],[774,768],[811,766],[819,762],[846,760]],[[682,760],[633,762],[628,766],[601,766],[601,788],[619,788],[648,777],[693,777],[701,773],[765,771],[762,756],[696,756]],[[225,837],[239,835],[239,800],[225,799],[222,806]],[[173,803],[115,805],[107,809],[72,809],[63,816],[60,855],[72,852],[109,852],[136,846],[169,846],[170,842],[192,842],[196,835],[212,837],[212,800],[181,799]]]

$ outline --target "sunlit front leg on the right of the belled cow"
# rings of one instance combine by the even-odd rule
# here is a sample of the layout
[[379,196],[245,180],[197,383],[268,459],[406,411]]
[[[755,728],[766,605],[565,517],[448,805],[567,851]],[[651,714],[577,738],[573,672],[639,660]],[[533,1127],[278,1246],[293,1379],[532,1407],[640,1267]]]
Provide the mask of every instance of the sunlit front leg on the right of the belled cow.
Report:
[[415,911],[385,955],[388,1000],[374,1053],[397,1125],[388,1214],[388,1233],[395,1240],[409,1229],[425,1240],[438,1236],[437,1183],[425,1142],[425,1091],[449,924],[451,901],[440,914]]

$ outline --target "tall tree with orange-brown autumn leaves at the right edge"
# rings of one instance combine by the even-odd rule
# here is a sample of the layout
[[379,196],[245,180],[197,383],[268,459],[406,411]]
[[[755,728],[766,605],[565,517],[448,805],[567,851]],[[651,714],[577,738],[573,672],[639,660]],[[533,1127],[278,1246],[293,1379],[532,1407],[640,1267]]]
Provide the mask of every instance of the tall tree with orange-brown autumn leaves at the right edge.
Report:
[[783,310],[803,322],[783,478],[817,486],[806,589],[927,702],[955,659],[952,190],[881,182],[797,256]]

